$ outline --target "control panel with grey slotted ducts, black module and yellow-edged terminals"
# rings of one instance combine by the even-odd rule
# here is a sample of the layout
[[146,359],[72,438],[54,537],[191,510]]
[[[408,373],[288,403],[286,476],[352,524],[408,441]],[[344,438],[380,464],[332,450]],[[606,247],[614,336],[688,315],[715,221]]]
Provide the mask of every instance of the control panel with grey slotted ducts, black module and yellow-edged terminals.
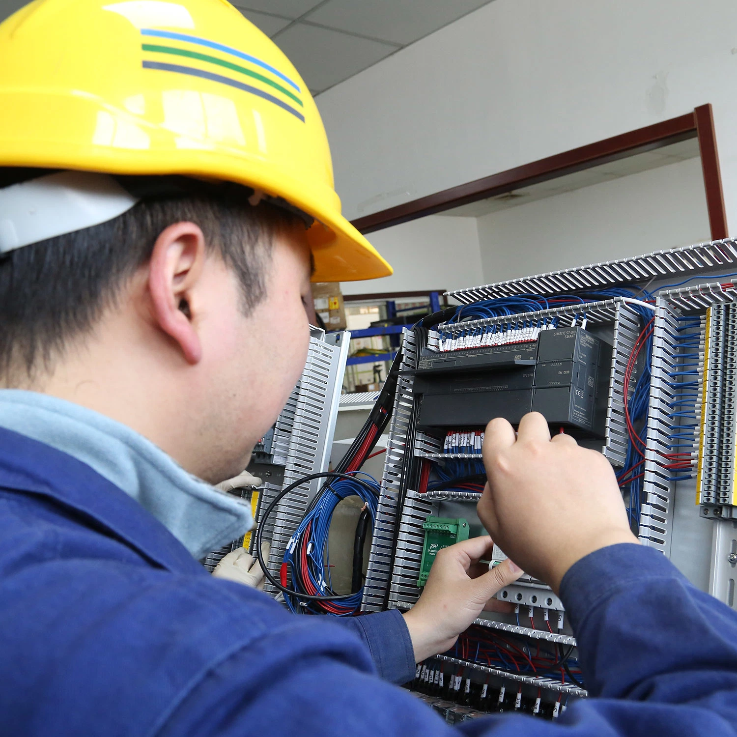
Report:
[[[643,545],[737,608],[737,289],[719,279],[736,266],[729,239],[658,251],[449,293],[455,315],[408,329],[363,611],[419,598],[427,520],[485,534],[481,433],[531,410],[609,459]],[[519,309],[495,311],[511,300]],[[506,708],[554,717],[585,697],[559,598],[526,574],[497,598],[514,614],[483,612],[411,688],[448,721]],[[538,647],[561,672],[509,657]]]

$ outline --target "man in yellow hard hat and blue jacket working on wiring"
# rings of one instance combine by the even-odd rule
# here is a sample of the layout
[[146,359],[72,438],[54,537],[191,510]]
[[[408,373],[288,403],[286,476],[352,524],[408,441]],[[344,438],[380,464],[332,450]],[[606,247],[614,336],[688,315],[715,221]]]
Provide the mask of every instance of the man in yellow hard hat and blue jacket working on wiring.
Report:
[[[212,484],[242,471],[301,374],[310,279],[391,273],[340,214],[282,52],[224,0],[19,10],[0,26],[0,254],[0,732],[447,732],[390,682],[519,575],[469,576],[488,538],[439,555],[411,612],[343,626],[198,563],[252,526]],[[591,695],[629,699],[581,702],[556,733],[727,734],[735,621],[636,545],[607,461],[536,415],[518,439],[492,422],[484,453],[483,522],[560,591]],[[657,604],[634,607],[646,591]],[[699,663],[688,641],[666,657],[675,598],[683,632],[722,618],[699,629]],[[655,607],[660,639],[612,617]]]

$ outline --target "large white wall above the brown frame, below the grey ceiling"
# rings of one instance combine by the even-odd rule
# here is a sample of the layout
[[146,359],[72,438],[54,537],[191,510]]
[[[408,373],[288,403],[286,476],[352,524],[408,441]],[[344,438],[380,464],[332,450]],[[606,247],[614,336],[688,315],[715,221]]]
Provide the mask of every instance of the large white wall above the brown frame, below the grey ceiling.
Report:
[[349,218],[711,102],[737,228],[736,91],[734,0],[495,0],[317,101]]

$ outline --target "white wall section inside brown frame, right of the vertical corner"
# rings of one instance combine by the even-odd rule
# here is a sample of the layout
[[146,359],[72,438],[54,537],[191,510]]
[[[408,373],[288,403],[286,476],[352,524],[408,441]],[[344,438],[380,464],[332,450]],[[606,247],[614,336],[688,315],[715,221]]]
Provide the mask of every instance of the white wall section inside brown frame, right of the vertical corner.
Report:
[[487,284],[710,240],[701,160],[492,212],[478,240]]

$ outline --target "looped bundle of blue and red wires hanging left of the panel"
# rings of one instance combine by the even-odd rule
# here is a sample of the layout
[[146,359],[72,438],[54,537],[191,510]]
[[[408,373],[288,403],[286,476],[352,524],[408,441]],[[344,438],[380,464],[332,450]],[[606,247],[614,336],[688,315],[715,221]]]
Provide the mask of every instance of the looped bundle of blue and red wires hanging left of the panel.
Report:
[[[363,481],[340,478],[330,481],[325,489],[312,500],[307,513],[299,523],[296,532],[290,537],[282,563],[282,586],[286,586],[287,573],[291,574],[292,585],[296,591],[310,596],[335,596],[330,580],[330,565],[327,554],[327,539],[332,514],[341,500],[357,496],[363,500],[364,509],[373,524],[376,520],[380,487],[374,478],[361,473]],[[367,486],[369,488],[367,488]],[[312,599],[300,601],[298,596],[284,594],[284,601],[293,612],[314,614],[333,614],[349,616],[357,612],[363,596],[363,586],[344,598],[333,601]]]

